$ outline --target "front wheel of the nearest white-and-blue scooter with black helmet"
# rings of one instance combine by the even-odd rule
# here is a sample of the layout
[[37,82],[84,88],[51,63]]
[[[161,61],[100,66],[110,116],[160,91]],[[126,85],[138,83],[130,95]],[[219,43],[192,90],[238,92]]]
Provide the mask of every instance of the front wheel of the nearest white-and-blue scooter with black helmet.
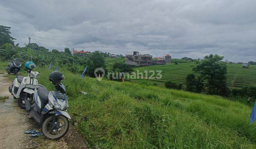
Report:
[[[53,125],[55,125],[53,127]],[[42,131],[44,136],[49,139],[59,139],[63,137],[69,129],[69,120],[63,115],[55,116],[55,124],[53,124],[53,116],[49,116],[43,122]]]

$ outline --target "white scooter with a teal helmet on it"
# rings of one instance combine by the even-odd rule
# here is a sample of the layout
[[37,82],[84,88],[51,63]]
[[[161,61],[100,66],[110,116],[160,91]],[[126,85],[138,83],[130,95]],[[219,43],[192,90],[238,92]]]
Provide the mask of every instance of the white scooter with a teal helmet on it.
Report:
[[39,72],[32,71],[33,68],[36,68],[36,65],[33,62],[25,63],[27,77],[17,76],[14,79],[12,85],[9,86],[9,92],[14,96],[15,99],[18,99],[18,105],[25,109],[25,100],[27,98],[32,99],[34,89],[36,88],[38,81],[36,78],[39,77]]

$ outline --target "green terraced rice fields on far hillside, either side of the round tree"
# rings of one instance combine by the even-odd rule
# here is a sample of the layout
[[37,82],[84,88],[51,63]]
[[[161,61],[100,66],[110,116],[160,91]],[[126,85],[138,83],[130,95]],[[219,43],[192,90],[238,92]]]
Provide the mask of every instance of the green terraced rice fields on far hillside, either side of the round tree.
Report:
[[[148,72],[148,76],[150,70],[162,70],[162,79],[147,79],[149,84],[156,83],[163,85],[165,81],[171,80],[176,83],[185,83],[186,76],[190,73],[193,73],[192,66],[195,66],[195,63],[179,63],[178,65],[168,63],[166,65],[155,65],[155,66],[146,66],[146,67],[138,67],[135,68],[134,72],[144,73],[144,71]],[[250,65],[249,68],[242,68],[241,64],[227,64],[228,65],[228,73],[227,79],[229,82],[229,86],[231,88],[241,88],[247,85],[256,85],[256,66]],[[154,74],[156,77],[157,73]],[[145,82],[145,79],[139,80],[131,80],[132,82]]]

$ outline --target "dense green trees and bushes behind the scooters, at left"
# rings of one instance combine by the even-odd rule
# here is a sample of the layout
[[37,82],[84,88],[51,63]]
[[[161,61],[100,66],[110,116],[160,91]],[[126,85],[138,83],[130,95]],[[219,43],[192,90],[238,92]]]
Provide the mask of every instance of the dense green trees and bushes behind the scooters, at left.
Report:
[[[64,48],[64,51],[52,49],[51,51],[44,46],[39,46],[36,43],[25,44],[20,47],[19,44],[14,45],[15,38],[10,35],[10,28],[0,26],[0,60],[11,61],[15,58],[21,60],[24,64],[26,61],[33,61],[37,66],[48,67],[50,63],[52,66],[64,68],[72,73],[81,73],[87,66],[85,75],[95,77],[94,70],[96,68],[103,68],[107,71],[123,71],[125,67],[132,70],[128,65],[114,64],[106,67],[105,58],[110,57],[110,53],[103,53],[101,51],[94,51],[80,56],[79,54],[71,55],[69,48]],[[120,55],[122,56],[122,55]]]

